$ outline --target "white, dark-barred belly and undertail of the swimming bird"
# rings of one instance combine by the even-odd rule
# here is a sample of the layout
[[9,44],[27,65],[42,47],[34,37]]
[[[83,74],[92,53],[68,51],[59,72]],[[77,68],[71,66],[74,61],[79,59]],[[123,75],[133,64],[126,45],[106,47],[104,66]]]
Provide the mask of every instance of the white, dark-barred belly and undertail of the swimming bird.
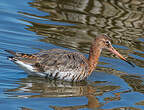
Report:
[[65,81],[80,81],[85,79],[87,74],[81,75],[78,71],[69,70],[66,72],[60,70],[47,70],[46,72],[37,72],[32,65],[23,63],[22,61],[16,61],[16,64],[20,66],[25,72],[31,76],[48,77],[52,79],[60,79]]

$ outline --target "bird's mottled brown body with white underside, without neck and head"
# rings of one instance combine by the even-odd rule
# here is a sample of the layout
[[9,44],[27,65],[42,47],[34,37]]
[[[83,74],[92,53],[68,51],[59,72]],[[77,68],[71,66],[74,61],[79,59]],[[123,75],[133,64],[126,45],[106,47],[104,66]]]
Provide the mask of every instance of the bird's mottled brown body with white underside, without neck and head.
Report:
[[32,55],[15,53],[15,56],[9,59],[29,75],[66,81],[80,81],[88,76],[88,60],[79,52],[50,49]]

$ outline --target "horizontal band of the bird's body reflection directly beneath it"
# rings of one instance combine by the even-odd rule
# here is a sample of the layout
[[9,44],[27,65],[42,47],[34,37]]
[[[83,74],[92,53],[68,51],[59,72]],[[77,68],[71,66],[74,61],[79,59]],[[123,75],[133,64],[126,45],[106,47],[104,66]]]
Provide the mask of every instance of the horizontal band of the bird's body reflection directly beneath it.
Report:
[[[8,89],[6,92],[12,97],[80,97],[80,96],[99,96],[104,92],[119,89],[119,86],[102,85],[105,81],[96,81],[89,84],[88,82],[69,83],[63,81],[44,80],[37,77],[23,78],[18,88]],[[38,93],[38,94],[19,94]],[[16,92],[16,93],[15,93]],[[15,94],[13,94],[15,93]]]

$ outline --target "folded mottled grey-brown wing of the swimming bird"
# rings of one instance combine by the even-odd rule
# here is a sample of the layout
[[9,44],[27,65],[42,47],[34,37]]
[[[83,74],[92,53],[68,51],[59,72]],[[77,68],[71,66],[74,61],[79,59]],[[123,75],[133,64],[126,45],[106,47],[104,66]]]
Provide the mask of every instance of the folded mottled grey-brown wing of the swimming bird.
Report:
[[37,57],[35,66],[42,71],[57,69],[69,71],[88,68],[87,59],[78,52],[52,49],[39,52],[35,56]]

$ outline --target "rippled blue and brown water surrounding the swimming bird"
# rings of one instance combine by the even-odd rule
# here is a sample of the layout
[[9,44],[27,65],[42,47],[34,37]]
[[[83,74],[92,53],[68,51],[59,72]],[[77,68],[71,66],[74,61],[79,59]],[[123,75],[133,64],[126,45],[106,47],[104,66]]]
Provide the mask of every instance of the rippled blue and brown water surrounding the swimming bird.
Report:
[[[143,0],[1,0],[0,107],[3,110],[143,110]],[[135,68],[107,51],[86,82],[29,77],[5,49],[51,48],[88,56],[95,35],[107,33]]]

